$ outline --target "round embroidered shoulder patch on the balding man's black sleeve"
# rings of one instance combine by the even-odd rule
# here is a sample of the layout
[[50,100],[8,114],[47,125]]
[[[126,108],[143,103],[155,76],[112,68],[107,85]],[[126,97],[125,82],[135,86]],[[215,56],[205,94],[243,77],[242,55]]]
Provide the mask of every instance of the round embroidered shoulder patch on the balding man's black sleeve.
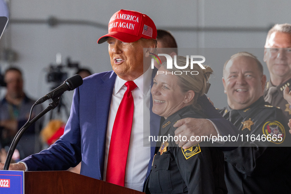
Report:
[[[263,125],[263,134],[266,136],[271,135],[271,142],[275,144],[283,143],[286,136],[284,126],[278,121],[266,122]],[[277,138],[273,138],[273,136],[276,136]],[[277,139],[277,141],[273,141],[274,139]]]

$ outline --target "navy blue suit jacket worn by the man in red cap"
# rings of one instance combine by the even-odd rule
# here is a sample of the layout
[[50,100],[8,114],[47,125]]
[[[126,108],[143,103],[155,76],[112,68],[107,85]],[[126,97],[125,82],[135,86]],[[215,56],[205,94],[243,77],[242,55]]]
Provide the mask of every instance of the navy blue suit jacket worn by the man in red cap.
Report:
[[[49,149],[24,159],[22,162],[27,164],[28,170],[65,170],[82,161],[82,175],[102,180],[107,121],[115,79],[114,71],[84,79],[83,85],[75,90],[64,135]],[[216,118],[211,121],[224,134],[237,135],[237,129],[219,114],[206,97],[203,98],[203,106],[209,118]],[[150,121],[151,135],[158,135],[161,117],[151,111]],[[147,176],[154,154],[155,147],[151,147]]]

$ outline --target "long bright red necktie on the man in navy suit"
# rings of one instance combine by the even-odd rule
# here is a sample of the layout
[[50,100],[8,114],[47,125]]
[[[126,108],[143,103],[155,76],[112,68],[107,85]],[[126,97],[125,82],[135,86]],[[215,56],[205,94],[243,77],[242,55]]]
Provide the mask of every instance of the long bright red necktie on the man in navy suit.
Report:
[[126,82],[125,86],[128,89],[120,102],[113,124],[106,171],[106,182],[123,187],[134,108],[131,91],[137,87],[133,81]]

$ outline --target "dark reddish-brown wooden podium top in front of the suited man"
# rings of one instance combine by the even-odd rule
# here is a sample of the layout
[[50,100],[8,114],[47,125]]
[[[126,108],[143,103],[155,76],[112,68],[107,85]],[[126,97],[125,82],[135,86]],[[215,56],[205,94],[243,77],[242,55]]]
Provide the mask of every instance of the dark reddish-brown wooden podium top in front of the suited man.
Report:
[[25,194],[144,194],[69,171],[28,171]]

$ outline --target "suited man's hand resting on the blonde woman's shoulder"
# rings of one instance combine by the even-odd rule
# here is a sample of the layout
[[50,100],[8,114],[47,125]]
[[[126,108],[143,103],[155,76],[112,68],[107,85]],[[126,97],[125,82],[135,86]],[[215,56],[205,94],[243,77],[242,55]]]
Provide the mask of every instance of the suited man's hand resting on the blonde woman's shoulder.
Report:
[[[187,149],[197,143],[200,143],[201,136],[217,136],[215,127],[211,121],[207,119],[185,118],[177,121],[174,127],[178,128],[175,130],[175,136],[181,137],[178,138],[176,144],[178,144],[179,147],[183,146],[183,149]],[[187,137],[186,141],[182,140],[183,136]],[[191,141],[194,140],[195,136],[200,136],[200,141]]]

